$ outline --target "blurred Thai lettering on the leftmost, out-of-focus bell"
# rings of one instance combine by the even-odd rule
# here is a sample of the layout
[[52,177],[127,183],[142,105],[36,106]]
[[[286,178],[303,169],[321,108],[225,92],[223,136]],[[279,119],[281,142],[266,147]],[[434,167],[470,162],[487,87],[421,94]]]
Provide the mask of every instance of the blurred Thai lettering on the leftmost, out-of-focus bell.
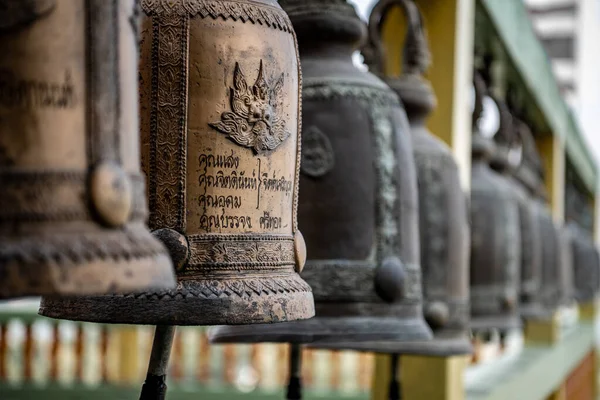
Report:
[[25,80],[0,69],[0,106],[6,108],[73,108],[75,88],[67,71],[63,82]]

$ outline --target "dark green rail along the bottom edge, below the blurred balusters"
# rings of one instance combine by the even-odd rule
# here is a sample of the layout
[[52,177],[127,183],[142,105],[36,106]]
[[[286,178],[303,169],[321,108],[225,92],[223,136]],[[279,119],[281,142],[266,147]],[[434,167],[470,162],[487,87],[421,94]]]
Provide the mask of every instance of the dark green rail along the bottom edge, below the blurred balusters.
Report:
[[[133,400],[139,398],[139,389],[116,386],[10,386],[0,384],[0,399],[2,400]],[[211,390],[201,387],[169,388],[169,400],[282,400],[283,392],[255,391],[243,393],[233,389]],[[306,400],[367,400],[368,395],[362,396],[328,396],[317,393],[306,393]]]

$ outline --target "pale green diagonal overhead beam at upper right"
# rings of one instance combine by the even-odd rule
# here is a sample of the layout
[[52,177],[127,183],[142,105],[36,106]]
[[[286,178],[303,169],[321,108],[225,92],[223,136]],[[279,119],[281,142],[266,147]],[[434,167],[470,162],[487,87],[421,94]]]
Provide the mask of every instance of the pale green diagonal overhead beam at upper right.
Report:
[[538,40],[522,0],[479,0],[514,68],[552,134],[564,140],[567,157],[591,193],[596,193],[598,168],[581,130],[565,104],[550,60]]

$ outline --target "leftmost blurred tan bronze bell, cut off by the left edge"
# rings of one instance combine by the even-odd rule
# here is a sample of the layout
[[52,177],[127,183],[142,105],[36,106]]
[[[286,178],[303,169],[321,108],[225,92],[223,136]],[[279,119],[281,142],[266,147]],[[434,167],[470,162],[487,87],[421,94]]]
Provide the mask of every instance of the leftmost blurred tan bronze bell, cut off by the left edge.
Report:
[[173,287],[144,225],[136,3],[0,9],[0,299]]

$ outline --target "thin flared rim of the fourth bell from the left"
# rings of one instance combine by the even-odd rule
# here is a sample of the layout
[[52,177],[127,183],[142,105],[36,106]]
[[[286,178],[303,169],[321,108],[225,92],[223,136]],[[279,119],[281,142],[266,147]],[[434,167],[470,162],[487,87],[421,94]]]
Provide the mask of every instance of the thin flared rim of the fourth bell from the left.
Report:
[[436,334],[432,340],[311,343],[308,347],[324,350],[352,350],[382,354],[457,356],[470,355],[473,346],[466,332]]

